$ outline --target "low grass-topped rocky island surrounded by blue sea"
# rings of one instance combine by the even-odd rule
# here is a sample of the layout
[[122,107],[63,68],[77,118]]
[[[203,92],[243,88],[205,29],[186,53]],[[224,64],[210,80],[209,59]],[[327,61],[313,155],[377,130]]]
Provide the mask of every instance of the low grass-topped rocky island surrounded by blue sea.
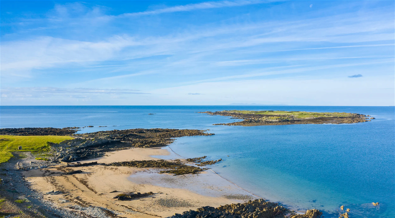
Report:
[[[305,111],[252,111],[224,110],[217,112],[198,112],[209,115],[230,116],[231,119],[243,119],[233,123],[217,123],[213,125],[261,126],[261,125],[290,125],[290,124],[323,124],[323,123],[362,123],[370,121],[368,116],[353,113],[338,112],[305,112]],[[374,119],[374,118],[371,118]]]

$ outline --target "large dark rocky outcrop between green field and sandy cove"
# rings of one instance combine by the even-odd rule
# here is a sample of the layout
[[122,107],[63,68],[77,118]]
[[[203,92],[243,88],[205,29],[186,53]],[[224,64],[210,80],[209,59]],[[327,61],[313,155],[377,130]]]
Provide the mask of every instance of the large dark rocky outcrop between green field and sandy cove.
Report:
[[197,129],[126,129],[73,134],[72,140],[48,142],[53,161],[80,161],[102,157],[104,152],[127,148],[152,148],[171,144],[175,137],[214,135]]

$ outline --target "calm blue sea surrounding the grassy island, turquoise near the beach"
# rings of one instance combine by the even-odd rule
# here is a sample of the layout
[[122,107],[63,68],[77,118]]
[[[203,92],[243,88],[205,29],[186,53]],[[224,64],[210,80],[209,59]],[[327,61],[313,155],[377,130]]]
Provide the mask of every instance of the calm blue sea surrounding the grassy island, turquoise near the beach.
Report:
[[[340,125],[243,127],[212,125],[237,120],[196,113],[233,109],[353,112],[376,119]],[[395,107],[0,107],[1,128],[94,126],[79,133],[132,128],[210,129],[215,135],[177,138],[170,148],[183,157],[222,158],[224,161],[213,167],[222,177],[293,209],[320,209],[326,218],[339,217],[341,205],[350,208],[350,218],[395,217],[394,118]],[[374,207],[372,202],[380,204]]]

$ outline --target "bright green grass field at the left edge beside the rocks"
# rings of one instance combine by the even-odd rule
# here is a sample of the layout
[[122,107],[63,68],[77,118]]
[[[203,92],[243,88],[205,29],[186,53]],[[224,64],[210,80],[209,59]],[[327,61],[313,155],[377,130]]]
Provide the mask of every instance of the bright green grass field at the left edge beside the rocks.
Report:
[[[0,163],[7,162],[13,155],[11,152],[45,152],[49,150],[47,142],[59,143],[70,136],[15,136],[0,135]],[[22,150],[18,150],[22,146]]]

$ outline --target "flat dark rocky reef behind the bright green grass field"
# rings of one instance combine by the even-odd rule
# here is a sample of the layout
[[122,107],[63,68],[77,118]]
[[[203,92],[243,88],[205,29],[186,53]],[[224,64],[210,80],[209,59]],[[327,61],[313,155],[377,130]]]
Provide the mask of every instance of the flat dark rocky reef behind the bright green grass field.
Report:
[[60,128],[5,128],[0,129],[0,135],[71,135],[78,127]]

